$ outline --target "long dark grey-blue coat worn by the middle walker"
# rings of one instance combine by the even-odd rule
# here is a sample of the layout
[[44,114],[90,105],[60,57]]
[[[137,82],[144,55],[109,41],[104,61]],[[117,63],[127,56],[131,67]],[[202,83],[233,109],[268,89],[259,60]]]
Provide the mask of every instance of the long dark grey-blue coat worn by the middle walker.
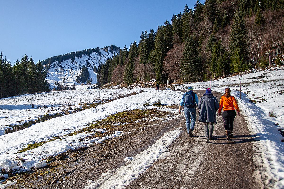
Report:
[[212,94],[204,94],[198,103],[199,122],[217,123],[216,111],[219,109],[219,103]]

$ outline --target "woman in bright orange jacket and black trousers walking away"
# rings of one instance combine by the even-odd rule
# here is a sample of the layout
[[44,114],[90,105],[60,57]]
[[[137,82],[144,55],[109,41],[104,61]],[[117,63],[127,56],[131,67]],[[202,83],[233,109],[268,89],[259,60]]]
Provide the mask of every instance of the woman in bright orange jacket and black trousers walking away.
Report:
[[224,120],[224,128],[227,134],[227,140],[230,140],[231,137],[233,137],[233,122],[236,117],[235,109],[237,110],[238,116],[240,116],[238,103],[235,97],[231,96],[230,92],[230,88],[225,88],[225,94],[220,99],[220,107],[218,110],[218,115],[221,116],[221,110],[224,106],[222,117]]

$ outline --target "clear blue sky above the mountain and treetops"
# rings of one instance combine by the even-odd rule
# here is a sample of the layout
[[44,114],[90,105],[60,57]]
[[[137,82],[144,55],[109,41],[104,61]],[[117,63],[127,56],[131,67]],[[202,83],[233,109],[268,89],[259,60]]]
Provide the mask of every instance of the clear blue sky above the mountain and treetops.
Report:
[[[0,1],[0,51],[13,65],[71,51],[109,46],[129,49],[142,31],[154,29],[196,0]],[[204,3],[204,0],[200,1]]]

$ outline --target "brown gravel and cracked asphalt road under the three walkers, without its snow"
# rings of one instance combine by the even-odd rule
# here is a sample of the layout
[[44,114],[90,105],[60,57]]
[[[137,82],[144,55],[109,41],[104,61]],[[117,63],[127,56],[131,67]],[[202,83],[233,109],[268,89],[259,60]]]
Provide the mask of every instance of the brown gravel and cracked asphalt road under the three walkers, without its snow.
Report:
[[[204,91],[194,92],[200,98]],[[220,93],[213,94],[220,99]],[[184,117],[168,122],[156,120],[151,127],[132,128],[124,131],[123,137],[70,152],[54,166],[11,177],[18,182],[8,188],[82,189],[87,180],[97,180],[109,169],[124,165],[125,157],[147,149],[174,127],[182,127],[184,132],[169,147],[170,156],[155,162],[126,188],[264,188],[253,161],[254,136],[244,116],[235,118],[231,141],[225,138],[222,117],[217,117],[217,122],[213,134],[216,140],[205,143],[203,124],[198,121],[190,138]]]

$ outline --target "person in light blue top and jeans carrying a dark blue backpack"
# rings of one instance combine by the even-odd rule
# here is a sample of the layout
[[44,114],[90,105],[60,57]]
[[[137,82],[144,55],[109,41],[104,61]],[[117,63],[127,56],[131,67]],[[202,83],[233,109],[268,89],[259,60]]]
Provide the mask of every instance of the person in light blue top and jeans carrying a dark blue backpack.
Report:
[[193,92],[193,87],[187,88],[187,92],[183,94],[179,103],[179,114],[181,114],[181,107],[183,106],[183,112],[185,116],[185,124],[187,128],[187,134],[189,137],[193,137],[192,131],[194,130],[196,121],[196,105],[198,104],[197,94]]

